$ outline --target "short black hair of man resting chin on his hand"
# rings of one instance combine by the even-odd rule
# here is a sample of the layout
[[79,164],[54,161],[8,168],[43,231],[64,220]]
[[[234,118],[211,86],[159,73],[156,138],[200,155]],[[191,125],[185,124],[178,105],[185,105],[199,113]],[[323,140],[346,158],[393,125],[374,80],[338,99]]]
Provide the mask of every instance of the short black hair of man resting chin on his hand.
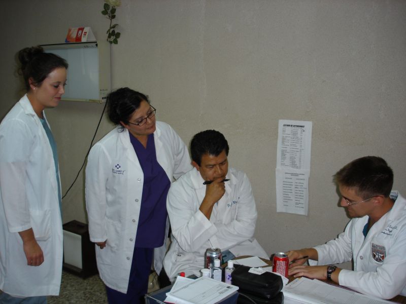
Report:
[[218,156],[223,150],[228,156],[228,142],[224,135],[216,130],[201,131],[190,141],[192,161],[200,166],[201,157],[205,154]]

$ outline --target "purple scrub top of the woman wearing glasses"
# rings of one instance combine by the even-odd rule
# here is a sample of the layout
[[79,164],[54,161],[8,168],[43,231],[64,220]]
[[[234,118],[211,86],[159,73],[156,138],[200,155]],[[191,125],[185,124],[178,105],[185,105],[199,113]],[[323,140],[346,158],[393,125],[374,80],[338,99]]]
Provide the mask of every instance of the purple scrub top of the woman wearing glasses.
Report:
[[143,196],[136,236],[136,247],[157,248],[163,245],[166,226],[166,196],[171,181],[156,159],[154,134],[148,135],[147,147],[129,133],[144,173]]

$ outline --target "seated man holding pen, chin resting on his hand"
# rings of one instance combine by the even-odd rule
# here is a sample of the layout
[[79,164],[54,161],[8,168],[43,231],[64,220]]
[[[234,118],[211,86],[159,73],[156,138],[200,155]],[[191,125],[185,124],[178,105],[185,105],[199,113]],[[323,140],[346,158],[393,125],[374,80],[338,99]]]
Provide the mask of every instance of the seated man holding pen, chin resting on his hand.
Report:
[[218,131],[193,136],[194,168],[171,185],[167,196],[172,244],[164,258],[161,284],[180,272],[199,277],[208,248],[220,248],[223,262],[241,255],[268,257],[254,238],[257,210],[250,181],[244,172],[228,167],[228,150]]

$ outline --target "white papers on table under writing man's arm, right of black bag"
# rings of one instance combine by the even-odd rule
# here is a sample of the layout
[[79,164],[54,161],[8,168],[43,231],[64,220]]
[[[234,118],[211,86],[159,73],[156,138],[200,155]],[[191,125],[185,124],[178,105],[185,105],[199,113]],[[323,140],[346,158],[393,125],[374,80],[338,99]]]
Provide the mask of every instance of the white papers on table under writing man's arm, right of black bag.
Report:
[[319,280],[305,277],[295,279],[282,289],[285,302],[288,299],[300,303],[315,304],[385,304],[392,303],[377,297],[367,296],[356,291],[333,286]]

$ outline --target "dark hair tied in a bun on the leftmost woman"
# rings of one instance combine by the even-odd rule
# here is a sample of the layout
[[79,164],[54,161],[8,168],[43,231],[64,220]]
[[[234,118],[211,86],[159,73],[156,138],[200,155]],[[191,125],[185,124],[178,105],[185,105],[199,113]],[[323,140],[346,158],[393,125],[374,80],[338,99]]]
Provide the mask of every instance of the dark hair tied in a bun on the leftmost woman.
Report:
[[20,50],[18,52],[18,60],[20,62],[18,73],[22,75],[27,91],[29,91],[30,78],[33,84],[41,87],[44,79],[55,68],[64,67],[67,69],[68,66],[65,59],[52,53],[45,53],[44,49],[40,46]]

